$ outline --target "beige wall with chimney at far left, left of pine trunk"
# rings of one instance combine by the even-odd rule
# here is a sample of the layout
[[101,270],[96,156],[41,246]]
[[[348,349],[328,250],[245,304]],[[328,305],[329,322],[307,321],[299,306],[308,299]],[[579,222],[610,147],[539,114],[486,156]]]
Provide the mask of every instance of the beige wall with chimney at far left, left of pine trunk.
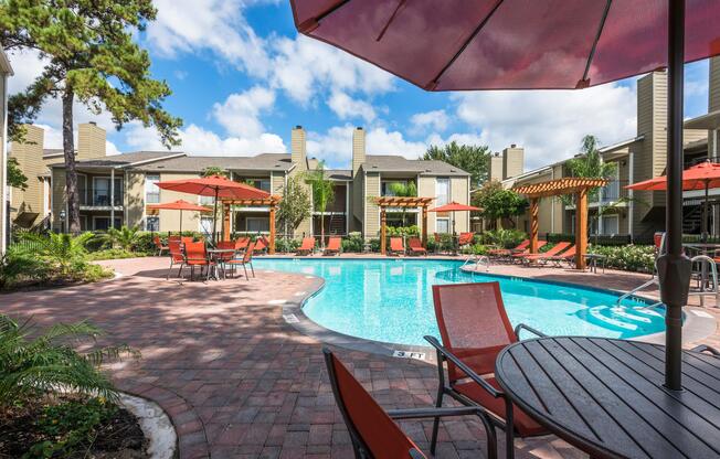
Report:
[[[12,189],[10,220],[14,220],[22,212],[39,214],[35,223],[43,218],[44,193],[43,183],[38,178],[47,171],[46,160],[43,160],[44,130],[36,126],[25,126],[24,142],[12,142],[10,157],[18,160],[22,173],[28,178],[28,188],[23,191]],[[57,159],[54,160],[55,162]],[[62,159],[61,159],[62,161]]]

